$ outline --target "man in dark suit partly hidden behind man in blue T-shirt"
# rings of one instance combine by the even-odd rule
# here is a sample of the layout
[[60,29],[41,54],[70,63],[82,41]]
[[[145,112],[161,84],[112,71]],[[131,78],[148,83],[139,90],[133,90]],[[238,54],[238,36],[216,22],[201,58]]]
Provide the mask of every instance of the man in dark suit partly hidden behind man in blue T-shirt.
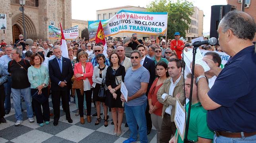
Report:
[[[151,58],[148,58],[146,56],[146,47],[142,44],[137,46],[137,50],[140,51],[141,55],[142,55],[142,60],[140,61],[140,64],[144,66],[144,68],[146,68],[149,73],[150,73],[150,79],[149,79],[149,83],[147,86],[147,92],[146,92],[146,96],[149,92],[149,89],[153,83],[153,81],[155,80],[155,62],[153,60],[151,60]],[[152,128],[152,121],[151,121],[151,116],[149,114],[149,105],[147,102],[147,108],[146,108],[146,119],[147,119],[147,134],[150,134],[151,132],[151,128]]]

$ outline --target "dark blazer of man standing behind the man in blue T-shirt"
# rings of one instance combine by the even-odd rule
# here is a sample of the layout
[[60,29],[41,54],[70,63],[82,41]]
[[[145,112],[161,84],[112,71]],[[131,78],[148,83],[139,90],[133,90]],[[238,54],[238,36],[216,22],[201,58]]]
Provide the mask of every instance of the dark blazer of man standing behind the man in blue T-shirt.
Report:
[[148,93],[153,81],[155,80],[155,62],[151,58],[148,58],[146,56],[143,66],[149,71],[149,74],[150,74],[150,79],[147,86],[147,93]]

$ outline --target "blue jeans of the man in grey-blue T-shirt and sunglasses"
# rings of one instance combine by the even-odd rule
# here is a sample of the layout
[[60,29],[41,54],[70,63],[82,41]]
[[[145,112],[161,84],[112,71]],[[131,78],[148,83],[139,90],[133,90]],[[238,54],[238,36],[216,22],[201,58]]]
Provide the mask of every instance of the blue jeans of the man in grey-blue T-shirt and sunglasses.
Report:
[[[140,134],[140,142],[147,143],[147,121],[146,111],[147,101],[143,105],[127,106],[124,104],[126,121],[131,131],[130,137],[137,140],[138,132]],[[139,130],[137,131],[137,124]]]

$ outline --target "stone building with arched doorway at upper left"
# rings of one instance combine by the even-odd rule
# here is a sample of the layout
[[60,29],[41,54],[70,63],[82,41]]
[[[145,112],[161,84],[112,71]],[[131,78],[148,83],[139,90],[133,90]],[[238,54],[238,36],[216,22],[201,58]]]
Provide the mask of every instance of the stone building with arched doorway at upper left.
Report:
[[[19,34],[23,34],[22,11],[19,10],[19,0],[0,0],[0,13],[6,14],[7,30],[0,30],[0,39],[6,43],[18,40]],[[71,0],[26,0],[24,6],[25,39],[48,39],[48,25],[54,21],[55,26],[70,28]]]

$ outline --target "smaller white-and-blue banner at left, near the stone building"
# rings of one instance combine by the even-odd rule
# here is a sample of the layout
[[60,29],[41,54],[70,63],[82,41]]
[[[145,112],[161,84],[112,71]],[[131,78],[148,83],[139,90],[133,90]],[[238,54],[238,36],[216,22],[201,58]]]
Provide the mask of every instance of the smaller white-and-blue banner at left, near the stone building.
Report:
[[[50,25],[48,26],[48,28],[49,28],[49,39],[61,38],[60,28],[56,28]],[[63,29],[63,34],[65,39],[76,39],[79,36],[78,25],[68,29]]]

